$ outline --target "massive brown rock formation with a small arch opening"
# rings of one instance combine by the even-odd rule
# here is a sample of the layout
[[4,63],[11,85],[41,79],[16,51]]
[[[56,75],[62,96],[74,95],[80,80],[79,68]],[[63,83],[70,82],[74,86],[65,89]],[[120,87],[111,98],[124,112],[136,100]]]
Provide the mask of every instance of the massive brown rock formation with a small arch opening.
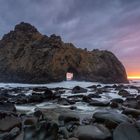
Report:
[[108,51],[87,51],[42,35],[28,23],[15,26],[0,40],[0,82],[46,83],[65,80],[127,82],[121,62]]

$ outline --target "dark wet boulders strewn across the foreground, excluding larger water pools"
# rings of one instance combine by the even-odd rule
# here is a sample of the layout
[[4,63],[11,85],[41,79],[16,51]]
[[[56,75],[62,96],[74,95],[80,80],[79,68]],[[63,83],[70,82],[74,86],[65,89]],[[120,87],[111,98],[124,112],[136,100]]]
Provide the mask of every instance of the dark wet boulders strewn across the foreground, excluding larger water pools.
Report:
[[[137,94],[131,93],[130,89],[136,90]],[[139,89],[140,87],[130,85],[76,86],[73,89],[1,88],[0,140],[139,140]],[[100,100],[110,90],[116,91],[120,98]],[[71,94],[64,98],[66,91]],[[36,108],[29,114],[16,109],[18,104],[43,101],[68,108]],[[87,113],[81,117],[76,107],[77,102],[98,108],[93,110],[91,116]]]

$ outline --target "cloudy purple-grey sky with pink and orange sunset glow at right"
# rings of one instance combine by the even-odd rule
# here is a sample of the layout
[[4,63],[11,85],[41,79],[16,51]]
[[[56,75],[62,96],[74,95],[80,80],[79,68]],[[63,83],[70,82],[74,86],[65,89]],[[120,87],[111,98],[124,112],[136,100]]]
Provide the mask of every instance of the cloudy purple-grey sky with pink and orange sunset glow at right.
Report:
[[0,38],[19,22],[77,47],[107,49],[140,77],[140,0],[0,0]]

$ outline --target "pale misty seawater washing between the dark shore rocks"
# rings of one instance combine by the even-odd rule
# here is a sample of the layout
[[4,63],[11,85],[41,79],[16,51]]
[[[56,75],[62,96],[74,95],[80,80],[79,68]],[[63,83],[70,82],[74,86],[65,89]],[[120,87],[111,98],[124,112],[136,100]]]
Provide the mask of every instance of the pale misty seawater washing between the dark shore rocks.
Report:
[[[85,82],[85,81],[63,81],[63,82],[58,82],[58,83],[49,83],[49,84],[19,84],[19,83],[0,83],[0,87],[3,88],[13,88],[13,87],[48,87],[48,88],[56,88],[56,87],[63,87],[63,88],[68,88],[68,90],[65,91],[64,94],[62,94],[62,98],[67,98],[71,95],[73,95],[71,93],[71,90],[73,87],[75,86],[81,86],[84,88],[87,88],[88,86],[91,85],[98,85],[100,84],[101,87],[105,86],[105,85],[112,85],[112,84],[101,84],[101,83],[95,83],[95,82]],[[134,86],[139,86],[140,87],[140,80],[131,80],[129,84],[125,84],[125,85],[134,85]],[[126,89],[128,90],[131,94],[138,94],[138,91],[135,89]],[[28,91],[27,93],[25,93],[26,95],[31,94],[32,91]],[[87,93],[78,93],[78,95],[80,94],[91,94],[94,93],[93,91],[91,91],[91,89],[88,89]],[[99,101],[110,101],[113,98],[122,98],[121,96],[119,96],[118,91],[114,90],[114,89],[110,89],[109,92],[105,92],[103,93],[101,96],[102,98],[96,98],[96,100]],[[76,95],[76,94],[74,94]],[[122,98],[124,99],[124,98]],[[93,111],[95,111],[96,109],[98,109],[98,107],[95,106],[89,106],[87,103],[84,102],[76,102],[76,104],[74,105],[77,107],[77,111],[78,112],[86,112],[86,113],[93,113]],[[23,111],[26,113],[32,113],[34,112],[34,110],[36,108],[40,108],[40,109],[55,109],[55,108],[69,108],[70,106],[64,106],[64,105],[59,105],[55,102],[49,101],[49,102],[42,102],[42,103],[38,103],[38,104],[28,104],[28,105],[16,105],[16,109],[18,111]]]

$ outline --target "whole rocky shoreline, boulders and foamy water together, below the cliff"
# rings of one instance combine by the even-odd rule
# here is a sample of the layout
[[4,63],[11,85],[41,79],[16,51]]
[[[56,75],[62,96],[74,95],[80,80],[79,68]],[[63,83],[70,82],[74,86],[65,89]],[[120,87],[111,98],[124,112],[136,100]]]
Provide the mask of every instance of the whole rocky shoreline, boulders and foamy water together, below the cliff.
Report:
[[[115,140],[116,133],[122,136],[127,131],[117,132],[124,124],[133,125],[140,135],[135,126],[140,120],[140,84],[67,81],[49,86],[12,85],[0,87],[0,130],[5,130],[1,137],[8,134],[10,139],[32,140],[34,135],[43,135],[36,140],[81,140],[84,135],[88,140],[101,139],[102,133],[105,139]],[[131,137],[129,131],[127,134]]]

